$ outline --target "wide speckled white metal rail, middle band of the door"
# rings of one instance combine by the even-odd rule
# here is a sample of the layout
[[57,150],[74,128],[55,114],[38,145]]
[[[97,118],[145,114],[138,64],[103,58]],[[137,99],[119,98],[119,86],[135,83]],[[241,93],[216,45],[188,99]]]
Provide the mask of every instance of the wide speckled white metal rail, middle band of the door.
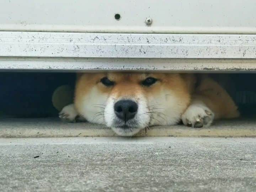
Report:
[[0,32],[0,57],[256,58],[256,35]]

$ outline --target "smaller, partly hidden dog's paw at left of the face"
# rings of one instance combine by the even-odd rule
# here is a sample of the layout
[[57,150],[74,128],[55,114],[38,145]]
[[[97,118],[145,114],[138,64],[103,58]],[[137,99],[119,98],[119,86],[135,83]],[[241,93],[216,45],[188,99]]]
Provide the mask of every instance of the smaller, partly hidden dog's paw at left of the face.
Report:
[[76,122],[78,112],[75,109],[74,104],[65,106],[59,113],[59,118],[64,122]]

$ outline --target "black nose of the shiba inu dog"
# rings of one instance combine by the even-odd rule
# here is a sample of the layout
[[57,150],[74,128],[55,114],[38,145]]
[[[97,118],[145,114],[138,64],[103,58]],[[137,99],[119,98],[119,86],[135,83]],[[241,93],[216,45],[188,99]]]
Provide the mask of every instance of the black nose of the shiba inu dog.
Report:
[[134,118],[137,110],[138,105],[132,100],[120,100],[114,104],[116,116],[125,122]]

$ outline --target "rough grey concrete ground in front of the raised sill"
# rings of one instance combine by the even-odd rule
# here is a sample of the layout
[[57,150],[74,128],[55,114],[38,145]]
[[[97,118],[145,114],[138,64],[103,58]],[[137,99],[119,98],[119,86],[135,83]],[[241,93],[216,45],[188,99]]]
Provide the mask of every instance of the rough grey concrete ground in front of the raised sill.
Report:
[[1,138],[0,191],[256,191],[256,139]]

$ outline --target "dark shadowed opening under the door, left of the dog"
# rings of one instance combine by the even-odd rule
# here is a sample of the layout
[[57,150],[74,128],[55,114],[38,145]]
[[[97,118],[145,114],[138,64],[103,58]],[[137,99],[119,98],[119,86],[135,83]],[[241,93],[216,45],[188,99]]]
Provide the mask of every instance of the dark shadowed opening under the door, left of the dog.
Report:
[[54,90],[74,86],[74,73],[0,73],[0,116],[53,117]]

